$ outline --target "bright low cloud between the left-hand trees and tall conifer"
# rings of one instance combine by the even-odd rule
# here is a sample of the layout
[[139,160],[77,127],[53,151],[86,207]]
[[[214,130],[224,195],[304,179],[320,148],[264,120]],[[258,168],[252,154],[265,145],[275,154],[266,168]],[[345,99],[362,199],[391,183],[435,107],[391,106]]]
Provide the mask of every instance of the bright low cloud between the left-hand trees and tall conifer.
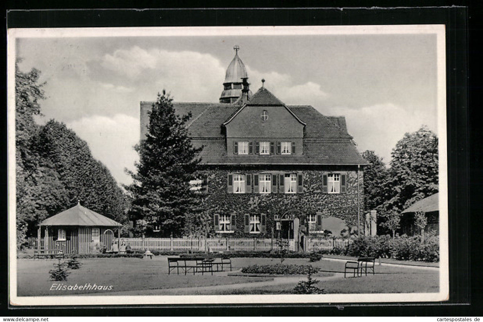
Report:
[[139,119],[125,114],[114,117],[92,115],[67,123],[79,137],[87,141],[95,159],[104,163],[118,183],[129,184],[124,169],[134,170],[139,160],[133,147],[139,142]]

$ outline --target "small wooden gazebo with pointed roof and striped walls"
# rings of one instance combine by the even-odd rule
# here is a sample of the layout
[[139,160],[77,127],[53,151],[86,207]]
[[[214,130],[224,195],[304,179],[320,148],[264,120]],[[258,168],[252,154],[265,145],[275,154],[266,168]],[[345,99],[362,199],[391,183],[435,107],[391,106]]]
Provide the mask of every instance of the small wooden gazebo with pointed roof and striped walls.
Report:
[[102,247],[110,251],[118,241],[122,225],[89,210],[80,203],[60,214],[45,219],[37,231],[37,249],[61,249],[65,254],[99,252]]

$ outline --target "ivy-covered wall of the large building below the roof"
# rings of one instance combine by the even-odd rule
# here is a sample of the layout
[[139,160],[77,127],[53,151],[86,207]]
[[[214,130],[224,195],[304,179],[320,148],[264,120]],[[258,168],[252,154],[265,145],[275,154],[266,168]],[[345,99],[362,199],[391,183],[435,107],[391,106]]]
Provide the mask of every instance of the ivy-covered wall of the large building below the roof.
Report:
[[[303,175],[303,193],[228,193],[228,174],[260,174],[260,173],[301,173]],[[323,192],[323,175],[338,173],[346,175],[345,193]],[[320,168],[294,169],[293,167],[211,167],[204,171],[207,176],[207,192],[203,197],[203,215],[198,225],[191,225],[188,234],[255,237],[244,232],[245,214],[266,215],[266,232],[256,234],[259,238],[270,238],[272,228],[275,229],[274,216],[282,216],[287,211],[296,210],[300,225],[307,227],[306,215],[322,212],[323,217],[337,217],[345,220],[351,227],[357,226],[357,167],[332,166]],[[253,180],[252,180],[253,181]],[[360,214],[364,213],[363,171],[359,170],[359,204]],[[253,185],[253,182],[252,182]],[[252,189],[253,191],[253,189]],[[236,215],[236,228],[233,233],[215,233],[214,215]],[[189,220],[187,220],[189,223]],[[188,225],[189,226],[189,225]],[[197,226],[194,228],[194,226]]]

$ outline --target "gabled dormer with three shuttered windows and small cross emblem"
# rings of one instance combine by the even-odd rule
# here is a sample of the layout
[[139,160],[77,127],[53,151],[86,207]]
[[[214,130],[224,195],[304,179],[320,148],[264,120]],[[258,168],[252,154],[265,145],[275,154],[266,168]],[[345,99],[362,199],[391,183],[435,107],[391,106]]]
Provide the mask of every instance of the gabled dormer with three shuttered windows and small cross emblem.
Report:
[[225,123],[227,155],[301,155],[305,123],[261,87]]

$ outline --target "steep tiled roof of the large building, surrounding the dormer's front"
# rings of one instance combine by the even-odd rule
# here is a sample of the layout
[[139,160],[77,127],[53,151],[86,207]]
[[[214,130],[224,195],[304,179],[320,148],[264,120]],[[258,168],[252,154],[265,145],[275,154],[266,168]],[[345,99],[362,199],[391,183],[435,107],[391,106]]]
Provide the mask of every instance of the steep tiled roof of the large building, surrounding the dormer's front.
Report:
[[[152,102],[141,102],[141,133],[145,134],[147,110]],[[204,146],[200,154],[205,164],[368,164],[357,152],[347,133],[345,118],[328,117],[308,105],[285,106],[267,89],[260,88],[246,106],[280,106],[287,108],[304,126],[303,155],[227,156],[222,124],[243,108],[234,104],[173,103],[178,115],[189,111],[187,122],[193,145]],[[275,107],[276,108],[276,107]]]

